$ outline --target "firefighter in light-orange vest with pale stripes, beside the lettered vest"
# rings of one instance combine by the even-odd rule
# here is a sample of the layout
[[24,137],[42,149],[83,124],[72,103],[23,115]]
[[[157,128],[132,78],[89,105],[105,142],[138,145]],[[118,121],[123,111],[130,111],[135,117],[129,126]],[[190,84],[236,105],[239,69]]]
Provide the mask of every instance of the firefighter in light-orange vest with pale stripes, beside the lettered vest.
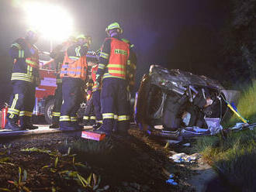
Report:
[[82,89],[88,76],[86,53],[91,40],[85,35],[79,35],[76,39],[77,43],[67,48],[61,67],[64,100],[61,105],[61,130],[82,128],[78,125],[77,111],[82,100]]

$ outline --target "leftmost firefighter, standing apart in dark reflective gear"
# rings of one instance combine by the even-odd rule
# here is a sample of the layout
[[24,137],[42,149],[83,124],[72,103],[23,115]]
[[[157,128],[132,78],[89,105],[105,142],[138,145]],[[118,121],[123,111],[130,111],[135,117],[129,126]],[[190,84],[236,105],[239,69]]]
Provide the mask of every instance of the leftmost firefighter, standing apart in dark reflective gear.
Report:
[[[9,101],[8,122],[5,129],[13,131],[37,129],[32,124],[36,86],[40,84],[39,54],[36,46],[38,33],[29,29],[25,38],[16,39],[9,53],[13,59],[12,96]],[[20,120],[20,127],[17,124]]]

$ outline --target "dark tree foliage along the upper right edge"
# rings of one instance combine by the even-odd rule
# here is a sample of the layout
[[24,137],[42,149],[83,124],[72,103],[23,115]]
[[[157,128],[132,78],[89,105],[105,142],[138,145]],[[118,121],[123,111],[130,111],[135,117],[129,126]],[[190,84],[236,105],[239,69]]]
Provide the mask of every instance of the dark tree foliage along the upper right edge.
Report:
[[256,1],[230,0],[230,15],[223,29],[224,64],[232,81],[250,82],[256,74]]

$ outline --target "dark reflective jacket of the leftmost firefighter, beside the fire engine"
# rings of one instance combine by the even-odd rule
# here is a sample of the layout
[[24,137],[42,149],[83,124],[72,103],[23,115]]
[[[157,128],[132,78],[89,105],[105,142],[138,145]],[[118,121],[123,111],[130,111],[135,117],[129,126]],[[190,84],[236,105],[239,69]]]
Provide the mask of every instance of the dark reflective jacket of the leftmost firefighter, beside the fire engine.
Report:
[[12,43],[9,54],[14,63],[11,81],[39,81],[39,54],[36,46],[19,38]]

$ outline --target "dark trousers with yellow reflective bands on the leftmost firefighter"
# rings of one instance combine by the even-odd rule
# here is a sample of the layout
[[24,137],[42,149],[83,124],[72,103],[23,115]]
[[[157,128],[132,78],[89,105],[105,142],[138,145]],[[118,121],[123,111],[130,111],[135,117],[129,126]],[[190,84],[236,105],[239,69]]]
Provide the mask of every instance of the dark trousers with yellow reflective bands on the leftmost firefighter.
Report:
[[12,81],[12,95],[7,116],[10,121],[18,122],[20,119],[20,125],[31,122],[35,105],[35,92],[35,84],[27,81]]

